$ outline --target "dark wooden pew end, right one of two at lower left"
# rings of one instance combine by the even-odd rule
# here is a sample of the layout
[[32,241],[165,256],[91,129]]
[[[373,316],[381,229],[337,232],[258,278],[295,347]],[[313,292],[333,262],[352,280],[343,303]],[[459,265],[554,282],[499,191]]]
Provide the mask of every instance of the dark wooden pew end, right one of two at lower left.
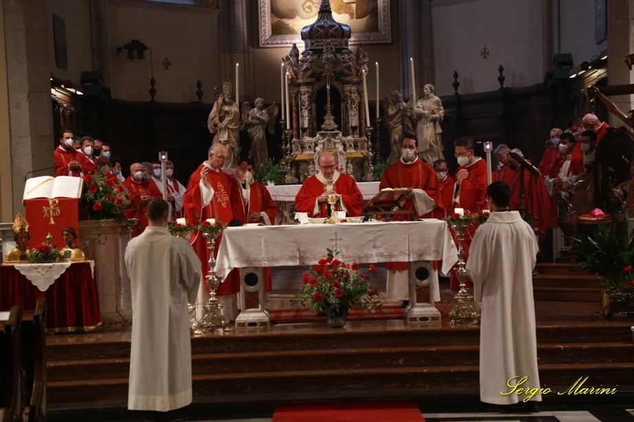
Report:
[[22,368],[26,373],[25,403],[28,422],[46,421],[46,298],[34,311],[25,311],[21,327]]

